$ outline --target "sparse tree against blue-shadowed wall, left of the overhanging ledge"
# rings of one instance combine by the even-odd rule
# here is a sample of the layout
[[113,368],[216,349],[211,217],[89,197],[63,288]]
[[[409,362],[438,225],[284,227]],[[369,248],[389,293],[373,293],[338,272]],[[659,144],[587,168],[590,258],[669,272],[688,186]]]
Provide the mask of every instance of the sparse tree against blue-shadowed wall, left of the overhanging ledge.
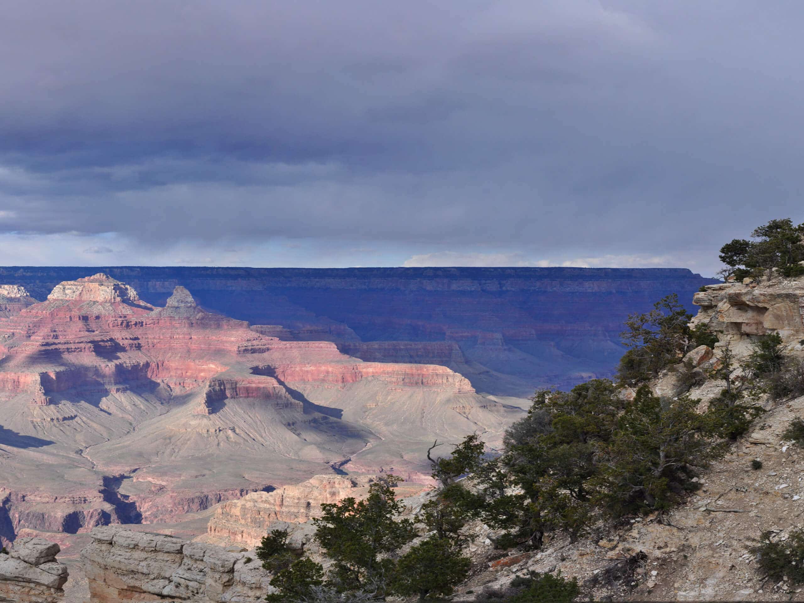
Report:
[[642,384],[679,362],[693,342],[687,324],[691,318],[675,293],[662,297],[648,313],[630,314],[626,330],[621,333],[622,343],[628,348],[617,368],[621,384]]

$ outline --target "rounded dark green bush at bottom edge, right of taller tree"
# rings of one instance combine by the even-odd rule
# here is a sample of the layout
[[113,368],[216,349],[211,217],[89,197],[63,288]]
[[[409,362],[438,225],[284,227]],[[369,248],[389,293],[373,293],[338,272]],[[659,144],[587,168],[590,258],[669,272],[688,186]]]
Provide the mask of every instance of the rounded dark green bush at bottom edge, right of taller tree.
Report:
[[446,597],[469,575],[471,560],[449,539],[433,536],[396,562],[392,589],[400,595]]

